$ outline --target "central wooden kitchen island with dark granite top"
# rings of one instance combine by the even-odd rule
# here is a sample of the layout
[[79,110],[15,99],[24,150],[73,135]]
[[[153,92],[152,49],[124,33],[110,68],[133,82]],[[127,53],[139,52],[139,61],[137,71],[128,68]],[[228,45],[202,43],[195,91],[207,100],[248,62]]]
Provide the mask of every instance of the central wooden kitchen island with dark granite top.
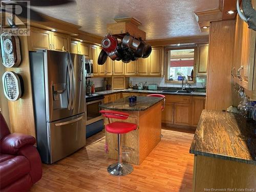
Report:
[[[129,97],[99,105],[102,110],[122,111],[137,117],[138,130],[122,135],[123,161],[139,165],[161,140],[161,106],[163,98],[138,96],[135,105],[131,106]],[[136,123],[134,119],[111,119]],[[105,118],[105,124],[108,120]],[[117,159],[117,134],[106,132],[106,146],[111,159]]]

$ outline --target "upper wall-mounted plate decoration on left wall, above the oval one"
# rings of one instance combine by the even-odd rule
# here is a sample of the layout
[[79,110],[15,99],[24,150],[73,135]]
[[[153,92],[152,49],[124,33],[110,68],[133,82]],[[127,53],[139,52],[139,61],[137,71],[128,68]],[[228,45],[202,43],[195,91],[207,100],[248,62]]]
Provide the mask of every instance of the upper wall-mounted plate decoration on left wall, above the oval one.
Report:
[[19,48],[19,38],[17,36],[3,33],[0,36],[1,60],[5,67],[18,67],[21,56]]

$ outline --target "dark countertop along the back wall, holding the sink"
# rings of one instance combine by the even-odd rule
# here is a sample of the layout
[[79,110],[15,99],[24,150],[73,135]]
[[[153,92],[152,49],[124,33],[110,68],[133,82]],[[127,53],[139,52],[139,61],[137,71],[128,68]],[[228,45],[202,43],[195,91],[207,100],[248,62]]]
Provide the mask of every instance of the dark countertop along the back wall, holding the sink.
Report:
[[151,91],[151,90],[129,90],[129,89],[123,89],[123,90],[106,90],[106,91],[99,91],[98,94],[111,94],[111,93],[118,93],[118,92],[133,92],[133,93],[158,93],[158,94],[168,94],[168,95],[192,95],[192,96],[205,96],[205,92],[193,92],[193,93],[167,93],[161,91]]

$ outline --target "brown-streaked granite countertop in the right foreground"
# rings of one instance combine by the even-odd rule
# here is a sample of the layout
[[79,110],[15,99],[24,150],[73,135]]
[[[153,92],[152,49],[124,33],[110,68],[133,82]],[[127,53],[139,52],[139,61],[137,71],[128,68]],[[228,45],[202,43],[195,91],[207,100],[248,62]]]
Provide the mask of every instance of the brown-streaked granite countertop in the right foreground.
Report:
[[256,124],[228,112],[204,110],[189,152],[256,165]]

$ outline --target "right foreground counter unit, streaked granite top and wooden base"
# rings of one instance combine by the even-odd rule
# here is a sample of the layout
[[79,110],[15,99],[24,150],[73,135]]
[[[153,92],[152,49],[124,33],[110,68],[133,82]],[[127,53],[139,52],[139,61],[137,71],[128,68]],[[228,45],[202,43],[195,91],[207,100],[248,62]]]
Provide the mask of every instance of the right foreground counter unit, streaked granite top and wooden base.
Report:
[[255,134],[253,121],[204,110],[190,146],[195,154],[193,191],[256,191]]

